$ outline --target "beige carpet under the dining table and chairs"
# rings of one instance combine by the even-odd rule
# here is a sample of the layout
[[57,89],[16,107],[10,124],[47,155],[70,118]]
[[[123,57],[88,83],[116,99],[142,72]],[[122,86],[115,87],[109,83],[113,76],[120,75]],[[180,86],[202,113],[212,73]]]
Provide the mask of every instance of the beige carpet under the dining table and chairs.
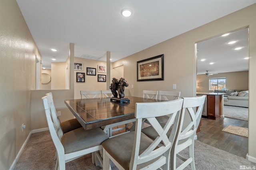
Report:
[[[120,144],[122,145],[122,144]],[[55,147],[49,131],[33,133],[13,170],[54,170]],[[180,152],[188,157],[188,148]],[[206,145],[198,140],[194,146],[196,170],[239,170],[241,165],[256,166],[245,158]],[[177,165],[181,164],[177,159]],[[100,170],[92,164],[92,154],[66,163],[66,170]],[[118,170],[111,162],[112,170]],[[184,170],[191,170],[190,166]]]

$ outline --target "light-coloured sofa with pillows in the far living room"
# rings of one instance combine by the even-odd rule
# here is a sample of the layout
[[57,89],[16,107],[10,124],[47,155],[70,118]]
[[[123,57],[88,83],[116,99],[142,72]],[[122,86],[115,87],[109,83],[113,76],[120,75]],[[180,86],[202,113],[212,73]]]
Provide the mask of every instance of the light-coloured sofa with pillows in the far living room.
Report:
[[249,91],[248,90],[214,90],[214,93],[224,94],[224,105],[248,107]]

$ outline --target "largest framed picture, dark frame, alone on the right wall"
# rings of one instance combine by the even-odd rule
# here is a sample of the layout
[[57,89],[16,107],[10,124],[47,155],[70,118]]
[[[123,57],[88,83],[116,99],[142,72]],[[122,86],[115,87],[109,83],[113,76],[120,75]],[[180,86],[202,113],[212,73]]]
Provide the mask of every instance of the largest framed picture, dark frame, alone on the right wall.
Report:
[[137,82],[164,80],[164,55],[137,61]]

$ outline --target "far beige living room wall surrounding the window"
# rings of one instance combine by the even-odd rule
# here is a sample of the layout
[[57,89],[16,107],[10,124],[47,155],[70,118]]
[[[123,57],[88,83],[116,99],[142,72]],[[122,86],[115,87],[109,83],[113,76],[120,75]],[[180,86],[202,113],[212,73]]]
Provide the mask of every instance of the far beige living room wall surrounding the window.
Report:
[[226,89],[228,90],[248,90],[248,71],[226,72],[205,76],[198,74],[196,82],[196,92],[212,92],[209,90],[209,79],[215,77],[226,77]]

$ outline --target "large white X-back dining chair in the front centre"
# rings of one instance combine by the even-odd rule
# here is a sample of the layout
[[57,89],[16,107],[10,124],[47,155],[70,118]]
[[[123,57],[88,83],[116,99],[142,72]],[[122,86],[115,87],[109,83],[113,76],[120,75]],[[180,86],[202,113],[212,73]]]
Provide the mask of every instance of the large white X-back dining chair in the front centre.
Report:
[[[180,109],[183,99],[168,102],[136,103],[135,131],[107,139],[103,146],[103,170],[109,170],[110,160],[119,170],[150,169],[162,167],[168,170],[170,164],[170,149],[176,136]],[[155,117],[170,115],[168,123],[162,128]],[[158,137],[150,139],[141,132],[142,120],[156,129]],[[166,133],[172,126],[170,136]]]

